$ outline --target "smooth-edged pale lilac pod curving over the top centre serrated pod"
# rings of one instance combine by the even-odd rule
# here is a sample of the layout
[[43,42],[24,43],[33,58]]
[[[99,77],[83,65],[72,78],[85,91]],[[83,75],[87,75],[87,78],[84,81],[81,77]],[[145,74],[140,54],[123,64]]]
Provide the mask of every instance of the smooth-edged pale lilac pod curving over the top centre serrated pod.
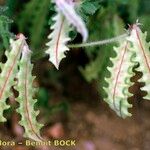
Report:
[[63,15],[66,17],[67,21],[72,24],[77,31],[82,35],[83,41],[86,41],[88,38],[88,31],[86,28],[85,23],[81,19],[81,17],[76,13],[75,11],[75,3],[74,2],[67,2],[66,0],[55,0],[55,3],[60,10],[60,12],[63,13]]

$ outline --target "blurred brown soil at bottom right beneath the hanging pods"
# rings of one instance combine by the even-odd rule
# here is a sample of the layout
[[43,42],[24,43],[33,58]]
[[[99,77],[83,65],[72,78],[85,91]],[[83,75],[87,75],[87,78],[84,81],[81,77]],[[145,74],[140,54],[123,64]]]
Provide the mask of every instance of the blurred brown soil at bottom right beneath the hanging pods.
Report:
[[[146,101],[142,107],[134,107],[132,118],[127,119],[117,117],[103,102],[94,106],[75,102],[71,105],[68,121],[62,122],[64,135],[61,139],[75,139],[76,146],[51,146],[45,150],[149,150],[149,114],[150,105]],[[29,149],[34,148],[16,147],[14,150]]]

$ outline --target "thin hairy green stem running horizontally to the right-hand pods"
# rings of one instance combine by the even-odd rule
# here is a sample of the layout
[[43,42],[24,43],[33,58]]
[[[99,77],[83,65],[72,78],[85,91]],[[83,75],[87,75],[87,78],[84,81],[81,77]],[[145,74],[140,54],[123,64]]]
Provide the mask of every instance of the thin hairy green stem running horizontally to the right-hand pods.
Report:
[[69,48],[80,48],[80,47],[99,46],[99,45],[104,45],[104,44],[120,41],[121,39],[126,38],[127,36],[128,36],[128,34],[126,33],[126,34],[122,34],[117,37],[105,39],[102,41],[87,42],[87,43],[81,43],[81,44],[70,44],[70,45],[68,45],[68,47]]

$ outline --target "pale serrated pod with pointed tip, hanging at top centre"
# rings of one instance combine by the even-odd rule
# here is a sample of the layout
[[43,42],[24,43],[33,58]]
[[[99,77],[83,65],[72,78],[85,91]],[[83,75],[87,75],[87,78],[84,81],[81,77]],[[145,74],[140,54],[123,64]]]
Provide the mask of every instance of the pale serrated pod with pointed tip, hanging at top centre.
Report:
[[49,61],[58,69],[60,61],[65,57],[64,52],[69,50],[66,46],[66,43],[70,40],[68,36],[69,25],[59,11],[53,18],[53,21],[55,21],[55,23],[51,26],[53,31],[48,36],[50,42],[46,44],[49,47],[46,53],[50,55]]

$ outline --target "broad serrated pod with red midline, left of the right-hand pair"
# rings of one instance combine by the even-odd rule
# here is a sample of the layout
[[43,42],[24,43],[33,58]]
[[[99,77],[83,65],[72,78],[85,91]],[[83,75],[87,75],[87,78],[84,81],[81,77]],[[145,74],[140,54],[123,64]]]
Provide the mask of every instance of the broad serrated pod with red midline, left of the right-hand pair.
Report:
[[130,78],[134,75],[132,68],[135,65],[133,61],[134,52],[130,50],[130,43],[125,41],[119,47],[115,47],[116,57],[111,58],[112,67],[108,67],[111,73],[110,78],[106,78],[108,87],[105,87],[107,98],[104,100],[117,113],[118,116],[126,118],[131,116],[128,108],[132,105],[128,103],[127,99],[131,96],[128,89],[132,85]]

